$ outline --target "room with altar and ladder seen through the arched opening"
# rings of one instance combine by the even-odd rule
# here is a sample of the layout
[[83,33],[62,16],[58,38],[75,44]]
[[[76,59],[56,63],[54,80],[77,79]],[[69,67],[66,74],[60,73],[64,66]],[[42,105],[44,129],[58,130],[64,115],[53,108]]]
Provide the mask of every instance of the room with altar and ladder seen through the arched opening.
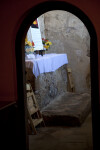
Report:
[[92,150],[90,35],[83,22],[61,10],[33,20],[25,67],[30,150],[54,150],[57,141],[59,150]]

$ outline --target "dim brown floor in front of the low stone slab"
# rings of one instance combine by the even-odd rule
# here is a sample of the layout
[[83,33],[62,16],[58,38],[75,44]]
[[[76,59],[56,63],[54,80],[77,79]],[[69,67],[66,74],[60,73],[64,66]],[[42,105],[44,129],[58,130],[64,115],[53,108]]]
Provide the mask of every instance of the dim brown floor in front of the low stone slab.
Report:
[[38,127],[29,150],[93,150],[91,113],[80,127]]

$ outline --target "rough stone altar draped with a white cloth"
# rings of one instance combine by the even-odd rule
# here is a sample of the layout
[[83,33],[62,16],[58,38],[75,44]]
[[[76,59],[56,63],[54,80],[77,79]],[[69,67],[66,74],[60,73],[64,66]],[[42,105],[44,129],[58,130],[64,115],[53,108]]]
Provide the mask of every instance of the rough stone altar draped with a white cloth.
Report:
[[67,91],[67,54],[28,55],[26,82],[31,83],[40,109]]

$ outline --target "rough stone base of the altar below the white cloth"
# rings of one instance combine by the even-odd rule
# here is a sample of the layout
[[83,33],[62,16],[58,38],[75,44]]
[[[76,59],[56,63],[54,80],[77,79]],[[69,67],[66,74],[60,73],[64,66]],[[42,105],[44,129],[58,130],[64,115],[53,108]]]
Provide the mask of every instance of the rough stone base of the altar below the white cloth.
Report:
[[40,74],[37,78],[32,69],[26,68],[26,81],[31,83],[40,109],[67,91],[67,65],[55,72]]

